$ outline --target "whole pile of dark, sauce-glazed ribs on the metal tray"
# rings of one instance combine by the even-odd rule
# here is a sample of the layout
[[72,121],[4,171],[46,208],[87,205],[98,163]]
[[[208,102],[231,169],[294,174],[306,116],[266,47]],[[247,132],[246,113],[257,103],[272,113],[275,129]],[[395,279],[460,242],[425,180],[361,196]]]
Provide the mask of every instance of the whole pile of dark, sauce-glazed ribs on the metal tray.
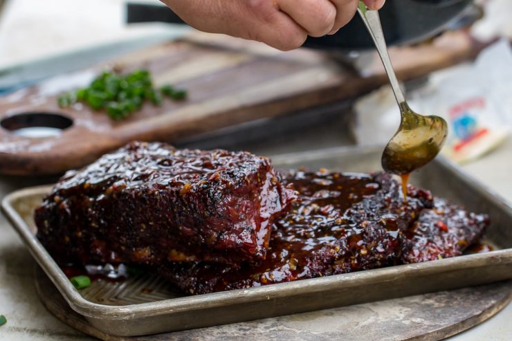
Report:
[[454,257],[489,224],[412,185],[404,201],[390,174],[143,142],[68,172],[35,221],[60,264],[143,265],[190,294]]

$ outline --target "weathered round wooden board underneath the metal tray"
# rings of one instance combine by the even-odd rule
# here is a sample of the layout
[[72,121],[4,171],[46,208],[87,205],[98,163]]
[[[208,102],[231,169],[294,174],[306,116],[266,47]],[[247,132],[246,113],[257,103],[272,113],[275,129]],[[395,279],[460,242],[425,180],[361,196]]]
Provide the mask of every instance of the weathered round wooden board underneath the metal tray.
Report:
[[48,311],[105,341],[441,340],[487,320],[512,297],[509,281],[189,331],[119,337],[98,331],[75,313],[39,267],[35,281]]

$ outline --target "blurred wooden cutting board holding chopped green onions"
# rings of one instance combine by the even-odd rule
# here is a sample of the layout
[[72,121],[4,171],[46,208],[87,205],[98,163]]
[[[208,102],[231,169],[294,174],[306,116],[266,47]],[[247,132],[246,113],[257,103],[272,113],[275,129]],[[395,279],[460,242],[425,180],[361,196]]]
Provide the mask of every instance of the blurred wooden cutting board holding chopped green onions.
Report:
[[[410,80],[473,57],[478,50],[478,44],[459,31],[430,44],[394,48],[390,54],[399,77]],[[165,100],[160,107],[145,104],[120,122],[80,105],[58,107],[56,97],[61,91],[77,87],[78,78],[86,79],[109,67],[126,72],[147,68],[157,85],[183,87],[189,98]],[[255,42],[194,33],[0,98],[0,173],[58,174],[91,163],[130,140],[173,142],[355,98],[387,82],[376,55],[364,74],[342,66],[327,53],[307,49],[283,53]],[[28,115],[21,116],[24,113]],[[34,125],[70,127],[44,138],[19,136],[9,130]]]

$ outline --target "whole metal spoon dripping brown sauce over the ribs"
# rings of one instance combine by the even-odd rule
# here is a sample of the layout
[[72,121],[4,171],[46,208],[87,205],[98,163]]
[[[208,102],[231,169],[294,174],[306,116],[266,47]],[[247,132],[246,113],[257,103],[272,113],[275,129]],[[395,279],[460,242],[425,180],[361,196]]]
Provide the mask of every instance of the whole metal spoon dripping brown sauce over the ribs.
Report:
[[446,139],[448,125],[439,116],[422,116],[410,109],[394,74],[390,55],[387,54],[378,11],[367,9],[362,1],[359,3],[359,15],[381,56],[401,113],[400,127],[383,151],[382,167],[393,174],[409,174],[437,156]]

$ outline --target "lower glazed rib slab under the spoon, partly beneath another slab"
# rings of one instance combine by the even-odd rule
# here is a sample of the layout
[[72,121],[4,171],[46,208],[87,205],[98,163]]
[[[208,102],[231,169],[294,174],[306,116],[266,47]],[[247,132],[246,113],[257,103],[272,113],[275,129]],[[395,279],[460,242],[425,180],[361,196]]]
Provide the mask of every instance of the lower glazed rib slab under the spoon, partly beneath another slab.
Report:
[[286,181],[301,202],[273,226],[262,264],[168,262],[158,273],[192,294],[250,288],[461,255],[488,225],[486,215],[413,186],[403,203],[387,174],[296,172]]

